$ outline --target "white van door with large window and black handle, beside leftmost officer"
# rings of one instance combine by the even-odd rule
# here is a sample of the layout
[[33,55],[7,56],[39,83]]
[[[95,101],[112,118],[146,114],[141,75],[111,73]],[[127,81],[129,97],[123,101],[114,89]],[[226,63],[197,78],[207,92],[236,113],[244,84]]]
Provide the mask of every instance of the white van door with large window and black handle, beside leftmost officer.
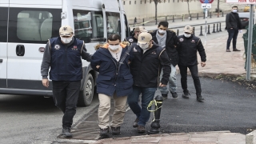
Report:
[[62,0],[10,0],[7,87],[50,90],[42,86],[40,73],[44,47],[58,37]]

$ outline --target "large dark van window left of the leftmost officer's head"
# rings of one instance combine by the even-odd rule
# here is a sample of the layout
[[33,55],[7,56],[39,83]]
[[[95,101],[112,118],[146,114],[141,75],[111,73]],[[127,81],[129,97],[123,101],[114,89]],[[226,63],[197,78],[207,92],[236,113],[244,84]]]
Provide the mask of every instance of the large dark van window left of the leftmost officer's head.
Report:
[[10,8],[9,42],[46,43],[58,37],[61,11],[55,9]]

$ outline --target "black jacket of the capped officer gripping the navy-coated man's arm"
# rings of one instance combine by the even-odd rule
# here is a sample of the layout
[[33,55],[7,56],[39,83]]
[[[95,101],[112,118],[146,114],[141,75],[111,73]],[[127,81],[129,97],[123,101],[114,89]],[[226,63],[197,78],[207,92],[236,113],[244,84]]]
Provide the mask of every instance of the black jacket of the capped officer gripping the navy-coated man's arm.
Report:
[[134,77],[134,86],[158,87],[161,70],[163,70],[161,82],[167,85],[171,68],[165,49],[153,45],[143,54],[143,50],[135,46],[133,52],[134,59],[130,63],[130,72]]

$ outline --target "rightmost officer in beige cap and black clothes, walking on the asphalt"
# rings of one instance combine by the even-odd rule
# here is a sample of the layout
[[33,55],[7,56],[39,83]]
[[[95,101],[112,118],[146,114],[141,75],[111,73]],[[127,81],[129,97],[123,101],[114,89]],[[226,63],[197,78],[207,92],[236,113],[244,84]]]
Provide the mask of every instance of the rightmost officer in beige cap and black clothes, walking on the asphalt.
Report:
[[193,28],[191,26],[185,26],[184,34],[178,36],[178,55],[179,62],[178,67],[181,73],[181,83],[183,94],[182,98],[189,98],[189,90],[187,90],[186,77],[187,68],[190,69],[190,73],[194,80],[194,87],[196,90],[198,102],[203,102],[204,98],[201,95],[201,83],[198,77],[198,58],[197,52],[199,52],[201,57],[201,66],[206,66],[206,52],[202,46],[201,39],[192,34]]

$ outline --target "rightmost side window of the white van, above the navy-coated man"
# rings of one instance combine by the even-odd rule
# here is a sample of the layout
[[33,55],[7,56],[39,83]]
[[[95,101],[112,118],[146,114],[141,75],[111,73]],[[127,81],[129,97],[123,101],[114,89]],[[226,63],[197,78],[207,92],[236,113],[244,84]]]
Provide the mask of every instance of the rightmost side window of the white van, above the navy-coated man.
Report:
[[120,14],[106,12],[106,30],[107,35],[121,34]]

